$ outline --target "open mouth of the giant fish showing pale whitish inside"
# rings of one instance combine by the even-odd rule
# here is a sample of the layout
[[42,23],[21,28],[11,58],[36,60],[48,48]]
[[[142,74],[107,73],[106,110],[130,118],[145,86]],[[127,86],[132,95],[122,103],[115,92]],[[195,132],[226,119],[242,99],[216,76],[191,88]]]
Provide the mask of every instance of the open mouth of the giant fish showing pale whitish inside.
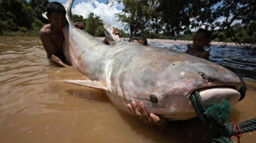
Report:
[[239,91],[228,86],[206,87],[197,91],[200,93],[202,103],[205,107],[214,103],[222,103],[223,100],[227,100],[233,105],[241,98]]

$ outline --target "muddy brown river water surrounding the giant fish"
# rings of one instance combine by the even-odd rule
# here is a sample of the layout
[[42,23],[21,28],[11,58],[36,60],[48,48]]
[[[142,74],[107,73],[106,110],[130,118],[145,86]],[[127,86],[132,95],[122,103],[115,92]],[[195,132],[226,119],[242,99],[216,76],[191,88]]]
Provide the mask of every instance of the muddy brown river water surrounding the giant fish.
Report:
[[[242,74],[248,91],[233,106],[232,123],[256,117],[256,75]],[[39,38],[0,37],[0,143],[200,143],[206,137],[196,118],[169,122],[159,132],[115,109],[104,92],[62,79],[86,77],[50,62]],[[256,131],[240,142],[256,143]]]

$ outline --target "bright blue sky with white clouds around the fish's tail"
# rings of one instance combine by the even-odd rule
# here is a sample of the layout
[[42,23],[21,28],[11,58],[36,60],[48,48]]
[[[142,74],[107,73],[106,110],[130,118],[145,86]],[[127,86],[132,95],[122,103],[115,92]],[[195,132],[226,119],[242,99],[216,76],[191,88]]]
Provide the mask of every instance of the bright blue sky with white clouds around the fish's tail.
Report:
[[[50,2],[58,1],[61,4],[66,4],[67,0],[49,0]],[[124,30],[124,26],[121,22],[117,22],[115,18],[115,13],[119,13],[123,5],[114,4],[107,5],[107,0],[75,0],[72,6],[72,13],[77,15],[82,15],[84,18],[88,17],[88,14],[93,12],[101,18],[101,20],[111,24],[113,27],[118,27]]]

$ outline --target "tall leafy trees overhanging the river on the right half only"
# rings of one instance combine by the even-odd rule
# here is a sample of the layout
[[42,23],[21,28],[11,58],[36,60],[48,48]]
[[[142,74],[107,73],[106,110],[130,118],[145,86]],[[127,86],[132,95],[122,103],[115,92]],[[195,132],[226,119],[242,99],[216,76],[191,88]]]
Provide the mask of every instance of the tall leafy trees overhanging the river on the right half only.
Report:
[[[131,34],[153,32],[179,37],[204,27],[215,33],[213,39],[256,43],[256,0],[108,0],[109,3],[116,1],[124,4],[116,16]],[[236,33],[239,31],[233,26],[235,23],[240,23],[237,26],[246,33]]]

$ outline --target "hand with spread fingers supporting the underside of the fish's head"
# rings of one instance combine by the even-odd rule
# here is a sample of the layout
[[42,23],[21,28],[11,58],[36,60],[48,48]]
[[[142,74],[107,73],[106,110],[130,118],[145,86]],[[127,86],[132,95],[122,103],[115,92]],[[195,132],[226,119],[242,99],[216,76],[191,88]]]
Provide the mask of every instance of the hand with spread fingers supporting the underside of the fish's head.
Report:
[[136,117],[138,117],[145,123],[152,124],[152,125],[159,125],[159,126],[165,126],[167,123],[166,119],[161,118],[155,115],[154,113],[148,114],[143,102],[141,102],[138,107],[136,105],[136,102],[132,101],[131,104],[127,104],[127,107]]

